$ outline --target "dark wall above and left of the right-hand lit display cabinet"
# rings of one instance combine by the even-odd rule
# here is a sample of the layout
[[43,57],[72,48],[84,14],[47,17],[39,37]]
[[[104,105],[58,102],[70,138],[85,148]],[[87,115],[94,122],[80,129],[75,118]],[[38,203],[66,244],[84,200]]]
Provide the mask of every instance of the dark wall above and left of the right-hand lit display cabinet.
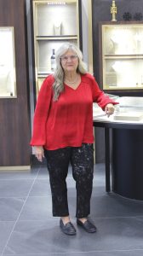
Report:
[[[134,17],[135,13],[143,15],[143,0],[116,0],[115,2],[117,5],[117,21],[123,21],[123,14],[125,12],[129,12],[132,17]],[[111,6],[112,0],[92,0],[94,76],[98,82],[100,81],[99,22],[112,20]]]

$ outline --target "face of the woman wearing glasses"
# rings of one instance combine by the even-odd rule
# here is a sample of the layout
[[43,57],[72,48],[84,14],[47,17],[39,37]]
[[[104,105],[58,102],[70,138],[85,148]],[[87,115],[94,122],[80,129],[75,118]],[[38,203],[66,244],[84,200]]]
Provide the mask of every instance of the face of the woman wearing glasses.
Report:
[[77,71],[78,58],[72,49],[68,49],[66,53],[61,56],[60,60],[65,73]]

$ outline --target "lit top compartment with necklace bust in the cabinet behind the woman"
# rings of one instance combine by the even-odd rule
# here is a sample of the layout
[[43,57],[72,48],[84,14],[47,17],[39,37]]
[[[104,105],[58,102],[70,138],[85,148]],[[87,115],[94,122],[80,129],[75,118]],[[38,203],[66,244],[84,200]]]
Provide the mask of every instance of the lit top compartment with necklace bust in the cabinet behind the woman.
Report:
[[77,35],[76,3],[37,3],[37,35]]

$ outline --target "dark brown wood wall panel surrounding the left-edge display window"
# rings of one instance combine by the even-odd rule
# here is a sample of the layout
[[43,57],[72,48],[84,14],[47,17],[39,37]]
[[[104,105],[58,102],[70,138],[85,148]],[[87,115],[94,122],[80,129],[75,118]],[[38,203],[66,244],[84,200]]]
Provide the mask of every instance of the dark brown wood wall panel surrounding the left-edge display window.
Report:
[[14,26],[16,99],[0,98],[0,166],[30,165],[25,0],[0,0],[0,26]]

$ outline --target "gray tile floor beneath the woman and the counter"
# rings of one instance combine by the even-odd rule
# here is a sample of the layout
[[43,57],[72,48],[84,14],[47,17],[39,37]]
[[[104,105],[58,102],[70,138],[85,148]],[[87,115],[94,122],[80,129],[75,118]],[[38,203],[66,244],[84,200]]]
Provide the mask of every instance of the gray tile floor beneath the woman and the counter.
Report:
[[[66,236],[51,214],[46,167],[31,172],[0,172],[0,255],[15,256],[142,256],[143,201],[105,191],[105,166],[94,166],[91,218],[97,233],[80,227]],[[69,208],[76,226],[76,191],[71,170],[67,177]]]

